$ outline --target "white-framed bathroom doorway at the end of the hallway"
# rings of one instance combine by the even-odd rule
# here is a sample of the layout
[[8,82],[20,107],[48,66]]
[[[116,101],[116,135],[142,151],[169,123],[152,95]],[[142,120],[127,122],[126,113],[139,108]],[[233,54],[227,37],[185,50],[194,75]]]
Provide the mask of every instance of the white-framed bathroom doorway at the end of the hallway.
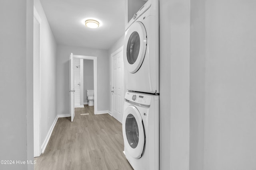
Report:
[[[73,55],[74,107],[88,104],[87,90],[94,90],[94,114],[97,113],[97,57]],[[90,99],[89,99],[90,100]],[[70,106],[71,107],[71,106]]]

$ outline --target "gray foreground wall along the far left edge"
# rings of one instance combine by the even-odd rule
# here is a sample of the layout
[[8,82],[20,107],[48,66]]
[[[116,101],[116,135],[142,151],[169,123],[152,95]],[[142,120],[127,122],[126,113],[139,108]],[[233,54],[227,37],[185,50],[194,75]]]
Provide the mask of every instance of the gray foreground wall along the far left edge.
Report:
[[0,20],[0,160],[33,160],[33,1],[0,1]]

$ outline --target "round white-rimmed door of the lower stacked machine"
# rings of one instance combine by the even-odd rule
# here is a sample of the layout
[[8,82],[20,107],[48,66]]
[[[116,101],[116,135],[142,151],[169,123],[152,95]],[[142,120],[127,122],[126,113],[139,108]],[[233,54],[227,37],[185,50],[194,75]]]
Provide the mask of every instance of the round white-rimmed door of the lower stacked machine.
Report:
[[142,117],[138,109],[130,105],[123,115],[122,121],[124,147],[134,158],[140,158],[144,149],[145,136]]

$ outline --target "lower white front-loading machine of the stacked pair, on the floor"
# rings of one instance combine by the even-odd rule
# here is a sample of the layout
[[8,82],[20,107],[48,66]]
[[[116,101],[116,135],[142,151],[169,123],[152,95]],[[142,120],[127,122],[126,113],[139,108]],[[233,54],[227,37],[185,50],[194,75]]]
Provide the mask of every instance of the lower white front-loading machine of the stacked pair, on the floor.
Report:
[[159,169],[159,96],[126,92],[124,152],[134,170]]

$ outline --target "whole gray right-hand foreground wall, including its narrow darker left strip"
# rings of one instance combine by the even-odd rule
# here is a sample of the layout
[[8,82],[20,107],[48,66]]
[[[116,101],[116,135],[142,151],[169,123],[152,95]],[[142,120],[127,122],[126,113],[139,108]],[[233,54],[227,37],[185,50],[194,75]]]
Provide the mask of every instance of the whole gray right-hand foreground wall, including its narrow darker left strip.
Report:
[[190,169],[255,169],[256,2],[191,2]]

